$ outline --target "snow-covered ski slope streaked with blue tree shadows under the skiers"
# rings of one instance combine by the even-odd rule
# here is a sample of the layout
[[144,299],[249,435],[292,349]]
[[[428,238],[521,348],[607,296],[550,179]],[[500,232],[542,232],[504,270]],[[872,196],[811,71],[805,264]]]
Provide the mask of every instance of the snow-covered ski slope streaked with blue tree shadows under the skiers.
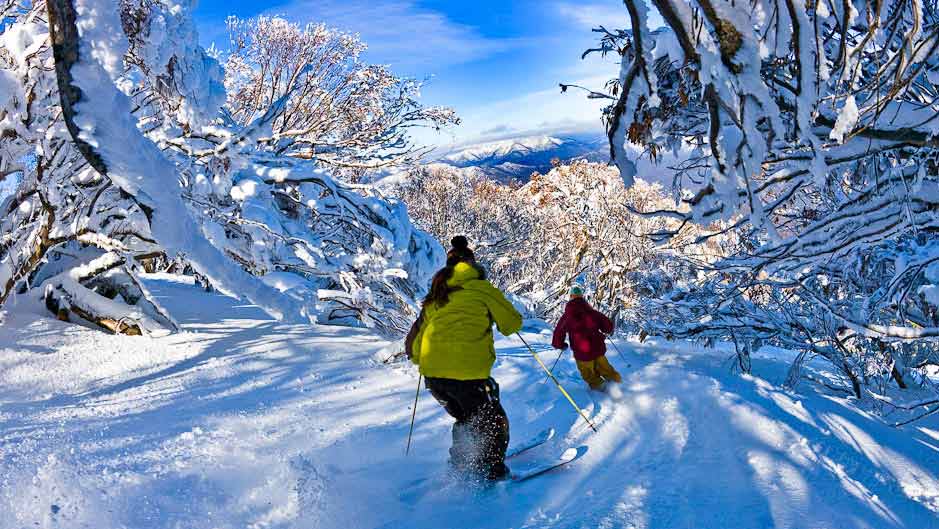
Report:
[[[845,401],[786,392],[784,354],[729,373],[726,351],[622,342],[620,391],[527,355],[494,376],[520,456],[587,454],[531,481],[443,478],[451,419],[368,331],[286,325],[186,281],[149,281],[185,332],[115,337],[19,302],[0,325],[0,529],[939,527],[939,419],[895,430]],[[550,333],[526,339],[550,365]],[[631,365],[627,368],[626,363]],[[432,484],[408,494],[415,484]]]

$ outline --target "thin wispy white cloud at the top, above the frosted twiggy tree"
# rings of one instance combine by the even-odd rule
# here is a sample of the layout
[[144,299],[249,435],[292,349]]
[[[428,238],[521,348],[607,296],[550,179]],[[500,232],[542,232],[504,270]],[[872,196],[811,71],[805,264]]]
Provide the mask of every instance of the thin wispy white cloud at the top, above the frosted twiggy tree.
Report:
[[370,61],[412,74],[483,59],[521,43],[487,38],[413,0],[295,0],[267,13],[359,33],[369,45]]

